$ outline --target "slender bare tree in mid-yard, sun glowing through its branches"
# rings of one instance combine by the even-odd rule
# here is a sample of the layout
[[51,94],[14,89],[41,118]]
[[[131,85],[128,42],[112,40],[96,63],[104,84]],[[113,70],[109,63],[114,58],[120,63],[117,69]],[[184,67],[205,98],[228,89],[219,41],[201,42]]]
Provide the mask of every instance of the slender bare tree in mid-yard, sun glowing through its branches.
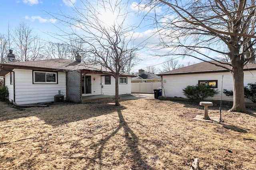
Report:
[[[130,35],[132,30],[125,23],[128,4],[122,0],[80,0],[79,3],[79,8],[72,7],[72,15],[54,15],[72,29],[72,32],[63,33],[66,39],[70,35],[80,39],[86,45],[86,48],[80,50],[86,53],[89,61],[110,70],[110,75],[115,78],[116,106],[119,106],[118,81],[121,69],[130,64],[138,50],[133,47]],[[65,37],[62,35],[62,38]]]

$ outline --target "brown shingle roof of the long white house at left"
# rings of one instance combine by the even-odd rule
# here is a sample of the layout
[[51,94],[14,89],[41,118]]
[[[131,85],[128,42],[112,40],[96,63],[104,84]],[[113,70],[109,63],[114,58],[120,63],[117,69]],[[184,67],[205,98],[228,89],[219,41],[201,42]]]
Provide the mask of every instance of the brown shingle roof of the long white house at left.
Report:
[[[15,63],[2,63],[3,67],[11,68],[30,68],[30,69],[52,69],[56,71],[68,71],[68,70],[94,70],[111,72],[108,68],[102,66],[90,64],[90,63],[79,63],[74,60],[68,59],[48,59],[48,60],[38,60],[38,61],[25,61],[25,62],[15,62]],[[132,76],[131,74],[122,73],[123,76]]]

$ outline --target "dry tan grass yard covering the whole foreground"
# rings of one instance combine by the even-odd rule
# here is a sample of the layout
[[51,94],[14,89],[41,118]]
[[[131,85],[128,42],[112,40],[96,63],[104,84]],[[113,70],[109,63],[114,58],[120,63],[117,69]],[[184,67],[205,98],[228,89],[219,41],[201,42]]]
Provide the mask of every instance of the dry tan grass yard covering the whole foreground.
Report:
[[[14,108],[0,102],[0,170],[256,170],[256,110],[222,124],[193,119],[199,104],[121,100]],[[209,107],[219,116],[218,107]]]

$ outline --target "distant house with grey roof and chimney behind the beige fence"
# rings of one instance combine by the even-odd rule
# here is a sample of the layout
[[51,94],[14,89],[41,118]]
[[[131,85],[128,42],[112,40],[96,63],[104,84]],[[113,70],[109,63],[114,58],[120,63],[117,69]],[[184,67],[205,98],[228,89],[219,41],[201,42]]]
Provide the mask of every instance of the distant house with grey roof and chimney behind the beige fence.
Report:
[[144,70],[139,70],[139,75],[132,78],[132,83],[157,83],[162,82],[162,78],[154,73],[145,72]]

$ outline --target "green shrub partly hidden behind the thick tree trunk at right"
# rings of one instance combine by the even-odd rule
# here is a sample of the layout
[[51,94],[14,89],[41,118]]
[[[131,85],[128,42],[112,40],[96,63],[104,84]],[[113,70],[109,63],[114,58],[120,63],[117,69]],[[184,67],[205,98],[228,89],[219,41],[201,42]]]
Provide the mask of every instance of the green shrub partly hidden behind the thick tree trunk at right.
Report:
[[[226,96],[233,96],[232,90],[223,89],[223,93]],[[244,97],[256,103],[256,83],[248,83],[247,86],[244,86]]]

